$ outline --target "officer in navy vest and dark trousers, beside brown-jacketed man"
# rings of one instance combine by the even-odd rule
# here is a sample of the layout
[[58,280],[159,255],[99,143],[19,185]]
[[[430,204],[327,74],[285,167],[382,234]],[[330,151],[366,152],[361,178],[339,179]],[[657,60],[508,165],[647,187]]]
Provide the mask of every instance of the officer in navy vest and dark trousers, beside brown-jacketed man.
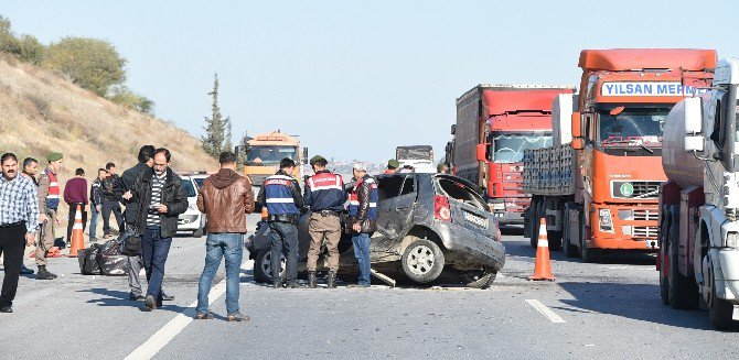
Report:
[[296,162],[289,157],[280,161],[280,170],[265,179],[257,203],[267,207],[270,234],[272,237],[271,271],[272,287],[282,287],[280,255],[285,253],[287,286],[298,286],[298,217],[303,207],[300,185],[290,174]]

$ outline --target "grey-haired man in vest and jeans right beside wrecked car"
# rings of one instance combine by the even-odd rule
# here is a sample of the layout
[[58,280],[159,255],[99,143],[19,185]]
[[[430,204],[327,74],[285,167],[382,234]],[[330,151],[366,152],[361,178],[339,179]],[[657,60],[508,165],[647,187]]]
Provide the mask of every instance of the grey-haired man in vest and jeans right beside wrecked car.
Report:
[[364,163],[354,164],[354,188],[349,197],[349,217],[352,226],[354,255],[360,264],[358,287],[370,287],[370,238],[377,230],[377,183],[367,174]]

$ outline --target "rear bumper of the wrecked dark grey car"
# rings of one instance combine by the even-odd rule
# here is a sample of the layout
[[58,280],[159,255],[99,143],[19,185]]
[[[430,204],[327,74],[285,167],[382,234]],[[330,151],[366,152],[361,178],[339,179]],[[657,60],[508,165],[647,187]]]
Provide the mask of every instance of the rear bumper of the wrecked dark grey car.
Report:
[[448,250],[462,254],[470,262],[496,271],[505,265],[505,247],[495,239],[456,223],[435,221],[433,228]]

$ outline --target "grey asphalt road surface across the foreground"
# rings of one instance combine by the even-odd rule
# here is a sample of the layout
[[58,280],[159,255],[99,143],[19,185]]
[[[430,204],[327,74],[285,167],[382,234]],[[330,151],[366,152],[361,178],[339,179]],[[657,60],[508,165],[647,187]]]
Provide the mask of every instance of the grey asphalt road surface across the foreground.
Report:
[[[706,312],[663,306],[652,255],[586,264],[553,253],[555,282],[529,282],[534,249],[504,232],[505,270],[490,290],[272,290],[242,273],[242,312],[226,323],[191,321],[202,239],[176,238],[153,313],[128,299],[125,277],[79,275],[53,259],[51,282],[21,279],[13,314],[0,314],[2,359],[502,358],[655,359],[736,357],[735,332],[710,329]],[[35,268],[35,266],[32,266]],[[223,280],[221,269],[215,283]],[[214,291],[218,291],[216,285]],[[538,308],[538,309],[537,309]]]

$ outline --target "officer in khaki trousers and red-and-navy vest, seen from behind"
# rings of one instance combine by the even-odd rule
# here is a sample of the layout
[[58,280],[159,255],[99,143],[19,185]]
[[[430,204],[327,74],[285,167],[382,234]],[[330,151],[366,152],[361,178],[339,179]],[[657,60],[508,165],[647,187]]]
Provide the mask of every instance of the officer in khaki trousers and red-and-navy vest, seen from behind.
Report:
[[315,287],[315,266],[324,240],[329,251],[329,288],[336,287],[339,270],[340,215],[346,201],[346,192],[341,175],[328,171],[326,164],[325,157],[313,156],[310,165],[315,175],[306,181],[306,206],[312,211],[308,223],[311,237],[308,250],[308,287],[311,288]]

